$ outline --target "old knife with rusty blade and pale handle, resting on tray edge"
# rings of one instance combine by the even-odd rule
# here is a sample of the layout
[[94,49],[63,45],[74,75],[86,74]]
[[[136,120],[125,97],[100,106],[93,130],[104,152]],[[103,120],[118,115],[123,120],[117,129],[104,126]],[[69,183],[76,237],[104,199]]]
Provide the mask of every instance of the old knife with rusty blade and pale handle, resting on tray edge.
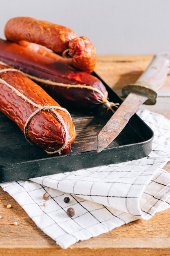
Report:
[[154,105],[156,103],[156,89],[165,82],[169,68],[170,53],[157,54],[136,83],[126,85],[122,89],[122,95],[126,99],[99,132],[97,153],[106,148],[119,135],[141,104]]

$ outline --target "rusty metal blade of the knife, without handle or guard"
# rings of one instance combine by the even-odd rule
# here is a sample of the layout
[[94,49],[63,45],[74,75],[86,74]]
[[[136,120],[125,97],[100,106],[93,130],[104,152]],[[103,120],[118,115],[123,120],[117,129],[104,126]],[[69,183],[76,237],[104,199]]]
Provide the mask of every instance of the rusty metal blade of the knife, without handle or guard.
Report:
[[130,117],[138,110],[148,98],[142,94],[130,92],[126,99],[121,103],[118,110],[108,120],[107,124],[102,128],[97,138],[97,152],[101,152],[106,148],[124,129]]

